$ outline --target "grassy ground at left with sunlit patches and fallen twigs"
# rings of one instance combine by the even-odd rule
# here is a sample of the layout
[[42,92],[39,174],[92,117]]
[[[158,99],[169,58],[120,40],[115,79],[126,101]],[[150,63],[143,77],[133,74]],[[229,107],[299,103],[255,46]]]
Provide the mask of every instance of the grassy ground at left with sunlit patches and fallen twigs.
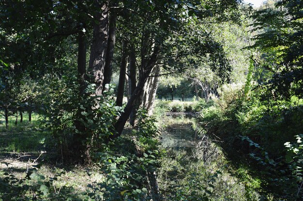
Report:
[[[82,192],[89,184],[102,181],[104,175],[93,167],[63,164],[39,115],[33,114],[31,122],[27,114],[23,118],[23,123],[15,125],[15,117],[11,116],[8,129],[4,117],[0,119],[4,122],[0,125],[0,201],[34,200],[42,184],[50,184],[52,193],[52,198],[44,200],[85,200]],[[37,164],[42,164],[38,173],[45,179],[23,181],[27,170]]]

